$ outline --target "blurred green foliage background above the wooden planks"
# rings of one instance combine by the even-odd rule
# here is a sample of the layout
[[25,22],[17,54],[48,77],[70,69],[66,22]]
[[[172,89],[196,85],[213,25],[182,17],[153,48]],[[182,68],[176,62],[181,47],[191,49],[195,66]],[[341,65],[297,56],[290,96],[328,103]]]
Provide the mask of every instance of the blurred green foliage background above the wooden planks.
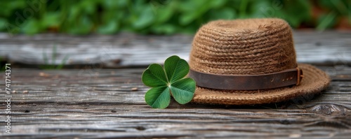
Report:
[[[194,34],[211,20],[281,17],[293,28],[351,22],[349,0],[1,0],[0,31],[11,34]],[[319,9],[317,12],[315,9]],[[314,14],[316,13],[316,14]]]

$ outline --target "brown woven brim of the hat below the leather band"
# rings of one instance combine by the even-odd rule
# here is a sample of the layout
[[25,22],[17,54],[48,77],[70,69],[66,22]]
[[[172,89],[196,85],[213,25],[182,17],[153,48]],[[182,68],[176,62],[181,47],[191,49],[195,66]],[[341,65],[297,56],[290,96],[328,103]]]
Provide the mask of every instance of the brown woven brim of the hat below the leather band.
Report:
[[[324,71],[309,64],[298,64],[298,68],[303,70],[304,77],[300,82],[300,85],[297,86],[253,91],[220,90],[197,87],[192,101],[195,103],[225,105],[277,103],[298,96],[310,97],[310,95],[318,94],[328,87],[330,78]],[[233,82],[233,84],[234,83],[235,82]]]

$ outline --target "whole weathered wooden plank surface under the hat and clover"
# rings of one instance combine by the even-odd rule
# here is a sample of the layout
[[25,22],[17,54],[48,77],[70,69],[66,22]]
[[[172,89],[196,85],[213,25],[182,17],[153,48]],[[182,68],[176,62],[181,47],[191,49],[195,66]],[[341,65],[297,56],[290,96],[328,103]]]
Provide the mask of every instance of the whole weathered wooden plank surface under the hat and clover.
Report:
[[[49,34],[28,37],[0,34],[0,56],[11,62],[13,67],[11,134],[5,132],[4,126],[8,114],[5,110],[5,73],[1,72],[0,137],[350,138],[351,34],[298,31],[294,35],[298,61],[317,65],[331,75],[331,85],[321,95],[266,105],[180,105],[173,101],[168,108],[159,110],[150,108],[144,101],[144,94],[149,88],[140,81],[145,70],[140,65],[162,63],[172,54],[187,59],[192,36],[120,34],[82,37]],[[43,47],[51,45],[48,38],[60,44],[58,63],[67,50],[67,53],[73,54],[69,64],[80,64],[80,68],[44,71],[15,66],[20,62],[27,62],[27,66],[42,64],[38,61],[38,54],[43,52]],[[96,61],[102,66],[75,57],[74,54],[85,54],[81,52],[82,47],[89,53],[85,58],[97,57],[98,54],[93,51],[100,52],[96,48],[100,47],[100,43],[94,41],[90,46],[77,45],[92,42],[93,38],[101,44],[112,44],[112,51],[106,51],[106,54],[120,55]],[[119,42],[123,39],[129,39],[129,43]],[[71,45],[62,45],[70,41]],[[26,57],[27,60],[24,60]]]

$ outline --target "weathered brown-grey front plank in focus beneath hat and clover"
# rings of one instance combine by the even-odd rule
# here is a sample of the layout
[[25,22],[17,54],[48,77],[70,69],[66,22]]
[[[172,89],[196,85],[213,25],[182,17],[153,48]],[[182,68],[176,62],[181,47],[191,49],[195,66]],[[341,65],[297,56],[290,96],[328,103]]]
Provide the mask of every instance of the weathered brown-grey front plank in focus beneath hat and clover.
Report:
[[[4,133],[2,122],[0,137],[350,138],[351,68],[319,68],[333,79],[319,96],[241,106],[172,101],[164,110],[146,105],[144,94],[149,88],[140,81],[143,68],[14,68],[12,133]],[[0,86],[4,84],[0,80]],[[5,110],[0,110],[0,117],[6,117]]]

